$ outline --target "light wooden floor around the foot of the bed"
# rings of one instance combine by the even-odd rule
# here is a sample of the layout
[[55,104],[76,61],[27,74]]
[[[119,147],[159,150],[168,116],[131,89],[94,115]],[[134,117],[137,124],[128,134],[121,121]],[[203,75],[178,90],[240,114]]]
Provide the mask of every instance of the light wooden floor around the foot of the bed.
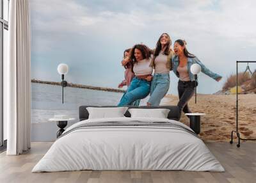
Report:
[[65,171],[31,173],[52,143],[32,143],[18,156],[0,154],[0,182],[256,182],[256,143],[206,143],[224,166],[225,172],[195,171]]

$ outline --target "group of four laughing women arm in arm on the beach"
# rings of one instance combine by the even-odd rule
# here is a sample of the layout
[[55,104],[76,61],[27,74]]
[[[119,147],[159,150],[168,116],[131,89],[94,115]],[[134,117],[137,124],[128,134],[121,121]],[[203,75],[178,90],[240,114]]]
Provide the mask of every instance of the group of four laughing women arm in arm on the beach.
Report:
[[[131,105],[135,100],[147,97],[149,93],[150,98],[147,106],[159,106],[161,99],[168,92],[170,70],[173,70],[179,78],[179,102],[177,106],[180,114],[182,111],[191,113],[188,101],[195,93],[195,84],[198,84],[197,79],[190,71],[191,65],[197,63],[204,74],[220,81],[220,75],[211,72],[195,55],[188,52],[184,40],[175,41],[174,52],[171,45],[172,40],[167,33],[163,33],[159,37],[156,49],[153,51],[142,44],[134,45],[129,52],[129,56],[122,61],[122,64],[130,65],[135,77],[133,77],[131,85],[127,88],[118,106]],[[153,68],[154,77],[151,76]]]

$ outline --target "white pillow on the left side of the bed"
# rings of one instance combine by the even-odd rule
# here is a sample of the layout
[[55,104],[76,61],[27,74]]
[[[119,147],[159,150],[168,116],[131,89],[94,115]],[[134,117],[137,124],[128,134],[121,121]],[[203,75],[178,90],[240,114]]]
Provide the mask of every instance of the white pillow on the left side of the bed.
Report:
[[124,114],[128,107],[86,107],[89,117],[95,118],[120,118],[125,117]]

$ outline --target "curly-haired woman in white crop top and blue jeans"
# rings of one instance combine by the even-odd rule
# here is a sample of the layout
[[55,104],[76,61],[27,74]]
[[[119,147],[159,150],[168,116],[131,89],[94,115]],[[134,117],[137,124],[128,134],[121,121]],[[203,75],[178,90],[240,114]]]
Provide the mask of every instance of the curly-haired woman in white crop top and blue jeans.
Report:
[[130,56],[127,58],[132,65],[134,77],[127,88],[118,106],[129,106],[138,99],[144,99],[150,92],[152,70],[150,66],[152,52],[146,45],[137,44],[132,47]]

